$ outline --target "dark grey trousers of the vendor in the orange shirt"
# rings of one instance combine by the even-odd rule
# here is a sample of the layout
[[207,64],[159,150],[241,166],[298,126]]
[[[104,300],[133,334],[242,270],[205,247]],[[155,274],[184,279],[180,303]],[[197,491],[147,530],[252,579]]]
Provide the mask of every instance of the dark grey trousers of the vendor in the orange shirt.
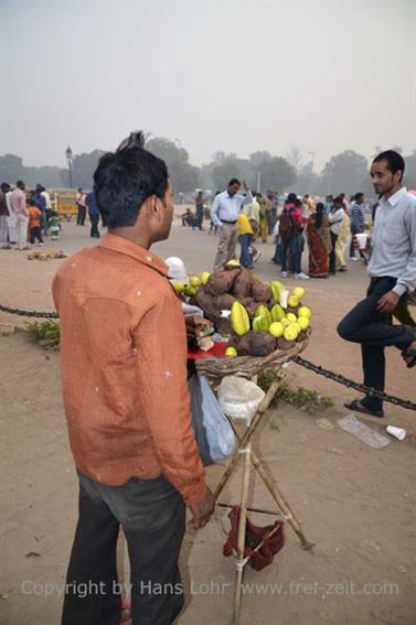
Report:
[[62,625],[118,625],[116,546],[130,559],[132,625],[170,625],[183,606],[178,569],[185,531],[181,495],[163,477],[106,486],[78,472],[79,518],[66,576]]

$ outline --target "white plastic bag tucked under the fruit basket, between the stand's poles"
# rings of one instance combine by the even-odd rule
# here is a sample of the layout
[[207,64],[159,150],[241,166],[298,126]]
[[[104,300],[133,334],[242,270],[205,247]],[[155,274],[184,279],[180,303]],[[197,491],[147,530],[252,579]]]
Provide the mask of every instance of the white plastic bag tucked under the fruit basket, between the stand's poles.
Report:
[[238,376],[227,376],[218,387],[218,401],[228,417],[253,419],[260,406],[265,392],[254,382]]

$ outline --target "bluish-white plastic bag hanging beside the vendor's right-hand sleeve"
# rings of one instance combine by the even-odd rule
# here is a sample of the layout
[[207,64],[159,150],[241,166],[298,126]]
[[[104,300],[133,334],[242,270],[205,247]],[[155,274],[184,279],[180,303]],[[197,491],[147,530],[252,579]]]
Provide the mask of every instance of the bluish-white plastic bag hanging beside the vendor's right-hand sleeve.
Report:
[[236,440],[215,395],[203,376],[188,381],[191,394],[192,427],[203,464],[221,462],[235,448]]

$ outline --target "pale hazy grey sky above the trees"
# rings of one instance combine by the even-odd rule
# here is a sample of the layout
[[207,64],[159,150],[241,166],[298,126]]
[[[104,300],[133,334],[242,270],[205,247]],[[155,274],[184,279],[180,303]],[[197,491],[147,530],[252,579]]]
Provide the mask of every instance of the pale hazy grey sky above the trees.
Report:
[[320,169],[416,148],[416,1],[0,0],[0,154],[64,165],[132,129]]

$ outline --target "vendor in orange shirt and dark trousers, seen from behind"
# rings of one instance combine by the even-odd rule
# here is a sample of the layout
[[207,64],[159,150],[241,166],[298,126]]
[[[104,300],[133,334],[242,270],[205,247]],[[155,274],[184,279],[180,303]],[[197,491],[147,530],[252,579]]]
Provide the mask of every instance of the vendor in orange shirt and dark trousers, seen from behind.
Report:
[[214,509],[191,427],[186,333],[168,268],[149,251],[171,228],[163,161],[132,133],[102,157],[95,193],[108,234],[57,271],[61,367],[79,518],[63,625],[120,618],[116,543],[122,526],[132,625],[168,625],[183,605],[178,558],[185,505],[195,528]]

